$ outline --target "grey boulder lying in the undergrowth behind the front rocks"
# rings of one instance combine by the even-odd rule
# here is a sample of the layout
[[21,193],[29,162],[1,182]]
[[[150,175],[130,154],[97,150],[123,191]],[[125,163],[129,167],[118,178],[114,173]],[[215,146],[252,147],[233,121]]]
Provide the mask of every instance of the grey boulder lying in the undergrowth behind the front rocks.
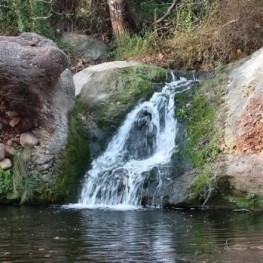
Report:
[[77,33],[64,33],[61,40],[87,60],[101,61],[109,57],[108,46],[99,39]]

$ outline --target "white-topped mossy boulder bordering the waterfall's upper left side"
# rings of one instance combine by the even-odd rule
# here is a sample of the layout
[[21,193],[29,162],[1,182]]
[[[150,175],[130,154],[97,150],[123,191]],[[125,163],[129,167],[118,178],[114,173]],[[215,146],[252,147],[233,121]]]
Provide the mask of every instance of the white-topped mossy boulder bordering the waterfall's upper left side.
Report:
[[162,68],[133,61],[113,61],[88,67],[73,76],[76,96],[88,105],[82,117],[90,150],[97,156],[132,107],[149,97],[165,79]]

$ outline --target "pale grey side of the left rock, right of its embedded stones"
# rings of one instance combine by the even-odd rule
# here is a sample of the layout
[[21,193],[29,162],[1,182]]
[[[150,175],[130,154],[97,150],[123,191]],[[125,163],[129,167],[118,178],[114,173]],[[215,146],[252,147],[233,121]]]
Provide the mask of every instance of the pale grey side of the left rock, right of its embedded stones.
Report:
[[70,70],[66,69],[60,75],[49,103],[42,109],[44,124],[35,131],[41,142],[34,150],[36,170],[47,172],[58,163],[61,150],[67,143],[68,113],[74,103],[74,82]]

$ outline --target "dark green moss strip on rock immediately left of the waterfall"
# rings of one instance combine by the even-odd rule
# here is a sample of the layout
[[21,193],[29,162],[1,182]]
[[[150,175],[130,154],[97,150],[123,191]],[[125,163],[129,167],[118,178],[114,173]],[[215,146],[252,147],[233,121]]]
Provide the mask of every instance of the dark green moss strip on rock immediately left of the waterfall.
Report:
[[85,173],[90,161],[87,137],[80,121],[83,104],[77,102],[69,114],[69,136],[56,169],[45,175],[35,174],[41,178],[38,186],[37,200],[59,202],[73,200],[78,192],[78,183]]

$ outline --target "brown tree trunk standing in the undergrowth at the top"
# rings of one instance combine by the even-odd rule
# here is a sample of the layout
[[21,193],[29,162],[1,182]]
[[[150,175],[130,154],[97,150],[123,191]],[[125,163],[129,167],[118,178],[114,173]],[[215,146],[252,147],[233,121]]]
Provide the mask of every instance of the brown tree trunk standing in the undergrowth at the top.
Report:
[[108,0],[113,34],[126,32],[126,0]]

